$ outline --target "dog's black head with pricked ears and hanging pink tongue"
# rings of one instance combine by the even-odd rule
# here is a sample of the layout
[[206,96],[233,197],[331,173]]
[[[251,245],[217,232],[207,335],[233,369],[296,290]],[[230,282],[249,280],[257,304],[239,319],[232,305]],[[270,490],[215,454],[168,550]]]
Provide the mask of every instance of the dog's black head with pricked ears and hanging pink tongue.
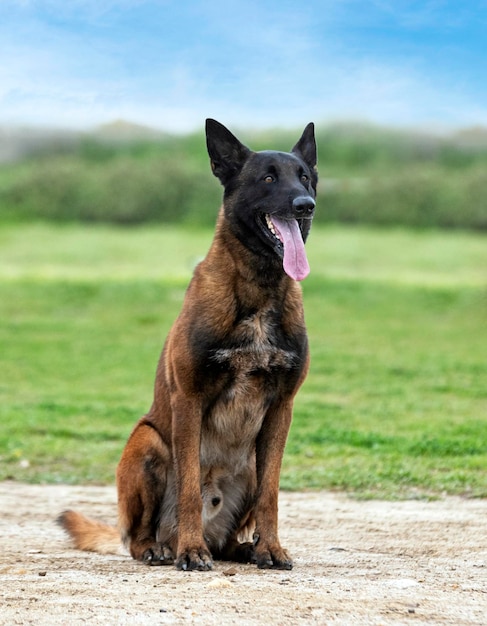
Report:
[[306,126],[291,152],[253,152],[212,119],[206,120],[206,142],[234,234],[253,252],[282,259],[291,278],[305,278],[304,242],[318,182],[314,125]]

